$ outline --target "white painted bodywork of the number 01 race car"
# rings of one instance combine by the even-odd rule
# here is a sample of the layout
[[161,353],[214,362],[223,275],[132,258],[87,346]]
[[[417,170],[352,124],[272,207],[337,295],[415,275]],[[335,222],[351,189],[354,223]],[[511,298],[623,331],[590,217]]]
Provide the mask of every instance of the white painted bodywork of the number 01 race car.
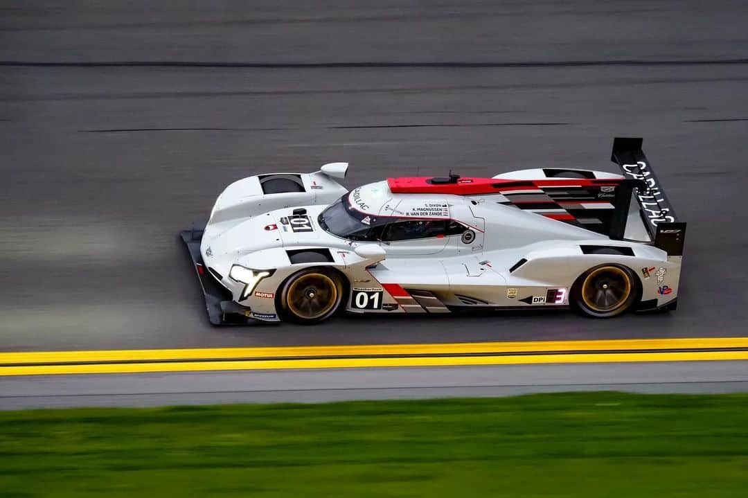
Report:
[[[263,193],[261,180],[266,176],[250,176],[229,185],[216,200],[200,254],[233,301],[251,310],[247,313],[251,318],[278,321],[281,284],[309,266],[331,266],[344,275],[349,294],[343,302],[353,313],[567,306],[577,278],[603,263],[631,268],[640,280],[640,301],[649,302],[652,308],[678,295],[681,258],[668,257],[652,245],[633,201],[626,239],[611,240],[583,225],[548,218],[554,214],[548,209],[518,209],[504,194],[393,193],[387,181],[346,194],[346,188],[331,178],[344,176],[346,167],[333,163],[316,173],[288,173],[293,181],[301,182],[303,191],[278,194]],[[622,179],[612,173],[592,173],[596,179]],[[494,178],[546,176],[543,170],[524,170]],[[537,195],[531,188],[527,194],[517,192]],[[343,202],[365,216],[364,220],[444,219],[456,222],[460,225],[456,230],[463,231],[422,239],[352,241],[319,224],[320,213],[344,194]],[[602,201],[596,202],[588,208],[605,209]],[[298,208],[306,209],[301,217],[293,214]],[[303,225],[301,230],[295,230],[297,222]],[[465,236],[466,232],[472,235]],[[624,253],[585,253],[586,246],[627,249]],[[288,251],[305,249],[328,250],[331,260],[293,264]],[[521,259],[526,262],[518,264]],[[245,283],[229,276],[233,265],[272,271],[272,275],[260,280],[251,295],[243,296]]]

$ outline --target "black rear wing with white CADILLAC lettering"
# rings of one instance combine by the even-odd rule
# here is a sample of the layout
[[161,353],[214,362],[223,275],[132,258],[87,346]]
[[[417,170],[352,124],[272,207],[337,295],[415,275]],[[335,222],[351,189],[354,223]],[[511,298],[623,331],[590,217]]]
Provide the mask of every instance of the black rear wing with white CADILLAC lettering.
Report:
[[[622,182],[620,194],[631,194],[639,205],[639,212],[649,233],[650,239],[657,248],[665,250],[668,256],[681,256],[686,238],[686,224],[678,221],[665,191],[654,174],[652,165],[642,150],[642,138],[616,138],[613,140],[613,154],[610,160],[619,167],[626,180]],[[618,199],[616,199],[618,201]],[[616,202],[618,206],[628,206],[630,201]],[[628,209],[626,209],[628,215]],[[622,215],[619,215],[619,226],[625,227]],[[624,229],[619,231],[622,233]],[[611,234],[614,237],[614,234]]]

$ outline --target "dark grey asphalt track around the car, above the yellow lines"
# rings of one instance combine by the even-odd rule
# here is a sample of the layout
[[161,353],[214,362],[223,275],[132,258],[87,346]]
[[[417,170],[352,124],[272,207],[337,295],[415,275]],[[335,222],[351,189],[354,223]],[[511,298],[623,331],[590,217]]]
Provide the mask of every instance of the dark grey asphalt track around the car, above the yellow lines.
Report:
[[[178,3],[0,2],[1,351],[746,335],[745,2]],[[688,222],[675,313],[218,329],[177,240],[255,173],[615,171],[616,135]]]

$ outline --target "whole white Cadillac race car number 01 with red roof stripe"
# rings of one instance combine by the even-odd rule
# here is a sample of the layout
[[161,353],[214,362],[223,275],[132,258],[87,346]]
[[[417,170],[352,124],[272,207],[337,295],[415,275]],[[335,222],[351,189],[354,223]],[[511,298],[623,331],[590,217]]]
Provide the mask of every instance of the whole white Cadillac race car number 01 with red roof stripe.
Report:
[[548,167],[389,178],[348,191],[346,163],[229,185],[181,233],[215,325],[351,313],[571,307],[675,310],[686,224],[642,151],[622,174]]

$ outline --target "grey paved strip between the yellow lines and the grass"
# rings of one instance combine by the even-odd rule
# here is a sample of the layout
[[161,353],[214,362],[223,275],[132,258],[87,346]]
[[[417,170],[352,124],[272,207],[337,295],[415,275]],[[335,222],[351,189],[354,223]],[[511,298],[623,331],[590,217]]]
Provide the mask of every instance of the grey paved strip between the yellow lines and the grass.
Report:
[[745,361],[274,370],[0,378],[0,410],[322,403],[620,390],[744,393]]

